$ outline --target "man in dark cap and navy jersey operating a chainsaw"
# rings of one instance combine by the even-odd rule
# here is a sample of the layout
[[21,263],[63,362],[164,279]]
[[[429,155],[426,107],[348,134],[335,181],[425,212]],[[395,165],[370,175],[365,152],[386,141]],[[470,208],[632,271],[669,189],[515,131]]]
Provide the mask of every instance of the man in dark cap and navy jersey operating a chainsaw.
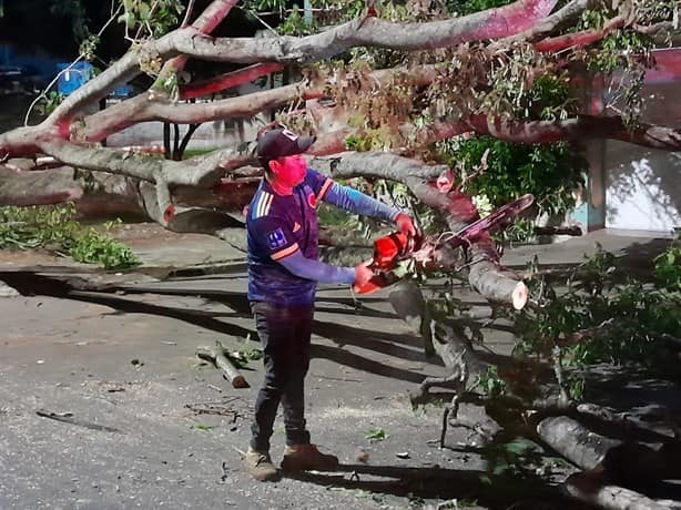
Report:
[[255,479],[274,480],[270,437],[281,404],[286,448],[283,470],[331,470],[338,459],[319,452],[305,428],[304,380],[316,283],[363,285],[373,276],[365,265],[336,267],[319,262],[316,206],[319,201],[352,213],[394,222],[416,235],[411,218],[350,187],[307,169],[302,153],[314,137],[273,129],[258,140],[256,155],[265,169],[248,206],[248,300],[263,344],[265,380],[244,467]]

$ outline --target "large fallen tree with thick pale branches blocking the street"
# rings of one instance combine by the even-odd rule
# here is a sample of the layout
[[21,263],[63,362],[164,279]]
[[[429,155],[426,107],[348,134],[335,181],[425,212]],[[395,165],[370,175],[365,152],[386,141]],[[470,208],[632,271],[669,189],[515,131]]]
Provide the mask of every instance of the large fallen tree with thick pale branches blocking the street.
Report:
[[[251,156],[252,144],[173,161],[170,154],[164,159],[144,147],[111,147],[101,142],[146,121],[195,126],[252,119],[263,112],[276,114],[279,122],[317,135],[309,154],[312,167],[339,180],[362,177],[402,185],[415,211],[437,217],[439,230],[428,233],[419,253],[420,269],[465,277],[495,307],[522,309],[528,300],[524,275],[502,266],[489,233],[466,249],[447,242],[451,233],[480,217],[467,192],[476,174],[485,171],[486,156],[475,162],[474,175],[466,174],[461,166],[446,162],[443,144],[485,135],[522,144],[609,139],[670,151],[681,147],[679,129],[632,119],[637,86],[653,64],[649,51],[655,38],[678,30],[678,6],[571,0],[558,8],[557,3],[490,2],[488,9],[461,12],[463,3],[408,1],[386,3],[376,16],[338,2],[337,10],[319,14],[318,24],[303,23],[299,17],[286,20],[288,34],[230,38],[213,33],[232,10],[247,10],[236,1],[215,0],[201,12],[193,12],[194,2],[190,2],[182,24],[161,35],[149,31],[157,20],[142,12],[140,4],[123,2],[115,14],[125,14],[126,33],[136,32],[129,35],[130,49],[39,124],[0,134],[6,163],[0,171],[0,205],[75,201],[85,211],[134,211],[171,231],[243,244],[238,213],[261,175]],[[169,9],[156,8],[156,14]],[[608,44],[602,43],[606,40]],[[238,69],[209,78],[192,75],[187,63],[195,61]],[[593,112],[583,98],[570,93],[575,83],[589,86],[593,74],[583,68],[594,62],[601,73],[618,70],[638,78],[628,84],[627,94],[622,91],[623,104],[606,104]],[[194,102],[284,70],[289,82],[282,86]],[[153,78],[148,90],[92,111],[120,83],[140,74]],[[397,287],[390,302],[424,336],[427,350],[451,368],[449,377],[424,381],[415,396],[427,398],[429,388],[438,385],[454,389],[443,420],[444,446],[450,416],[461,418],[461,399],[494,365],[479,356],[469,338],[433,313],[418,288]],[[545,359],[553,361],[557,409],[573,419],[579,409],[572,409],[561,380],[561,356],[557,349]],[[525,410],[543,409],[526,395],[512,398]],[[590,432],[579,429],[578,434],[579,424],[570,428],[568,445],[561,442],[566,425],[559,419],[546,417],[533,425],[547,445],[580,468],[609,469],[603,463],[607,451],[580,450],[580,437]],[[674,441],[677,437],[662,442]],[[622,451],[621,445],[610,446]],[[668,451],[650,451],[662,450]],[[651,453],[655,460],[648,466],[658,466],[655,455]],[[571,494],[606,508],[627,508],[636,500],[604,482],[601,490],[612,493],[606,504],[601,497],[585,496],[583,483],[578,482],[578,478],[569,481]]]

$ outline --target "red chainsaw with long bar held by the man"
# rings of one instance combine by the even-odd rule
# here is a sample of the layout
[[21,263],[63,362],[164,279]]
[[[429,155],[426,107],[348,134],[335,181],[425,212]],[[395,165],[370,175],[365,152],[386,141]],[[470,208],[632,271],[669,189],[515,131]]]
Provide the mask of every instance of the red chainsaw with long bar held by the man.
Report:
[[[484,233],[498,232],[508,226],[533,202],[535,197],[531,194],[524,195],[492,211],[488,216],[466,225],[459,232],[449,233],[444,241],[440,239],[436,244],[446,243],[449,247],[460,246],[467,249]],[[374,271],[374,276],[364,285],[355,285],[354,290],[357,294],[372,294],[399,280],[400,276],[394,269],[400,262],[411,258],[421,248],[423,242],[420,233],[417,236],[408,236],[402,232],[394,232],[376,239],[374,256],[367,264],[367,267]]]

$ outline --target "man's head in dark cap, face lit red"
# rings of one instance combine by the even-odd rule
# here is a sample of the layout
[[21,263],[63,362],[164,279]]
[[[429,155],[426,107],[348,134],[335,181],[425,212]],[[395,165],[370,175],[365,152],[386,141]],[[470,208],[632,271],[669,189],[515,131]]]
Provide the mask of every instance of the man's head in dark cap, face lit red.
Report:
[[271,178],[285,187],[293,187],[305,178],[306,163],[299,154],[307,151],[315,140],[277,128],[261,135],[255,153]]

